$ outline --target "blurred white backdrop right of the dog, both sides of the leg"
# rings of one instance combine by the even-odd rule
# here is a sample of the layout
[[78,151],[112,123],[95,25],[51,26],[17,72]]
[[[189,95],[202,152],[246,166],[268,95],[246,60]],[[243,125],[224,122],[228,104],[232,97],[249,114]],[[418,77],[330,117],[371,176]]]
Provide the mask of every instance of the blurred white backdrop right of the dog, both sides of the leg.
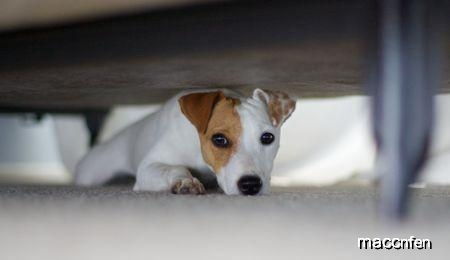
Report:
[[[450,95],[435,100],[429,160],[417,184],[450,185]],[[369,102],[366,97],[299,101],[282,128],[272,184],[323,186],[376,178]]]

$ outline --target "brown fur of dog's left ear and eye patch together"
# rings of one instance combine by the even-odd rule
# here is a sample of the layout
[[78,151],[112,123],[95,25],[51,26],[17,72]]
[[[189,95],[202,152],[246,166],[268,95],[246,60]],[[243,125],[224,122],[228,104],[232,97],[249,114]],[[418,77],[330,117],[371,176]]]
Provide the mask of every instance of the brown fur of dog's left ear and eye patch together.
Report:
[[[236,106],[239,100],[226,97],[221,91],[192,93],[179,99],[182,113],[197,128],[203,159],[219,173],[236,153],[242,133]],[[226,146],[218,146],[213,136],[221,135]]]

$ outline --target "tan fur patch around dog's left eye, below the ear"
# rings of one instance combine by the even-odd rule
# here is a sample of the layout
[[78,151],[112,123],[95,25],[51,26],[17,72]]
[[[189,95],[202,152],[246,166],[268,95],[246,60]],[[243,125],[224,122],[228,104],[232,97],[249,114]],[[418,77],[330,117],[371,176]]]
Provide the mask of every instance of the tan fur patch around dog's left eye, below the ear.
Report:
[[[208,128],[200,134],[203,159],[218,173],[236,153],[242,133],[241,120],[236,105],[239,100],[224,98],[220,100],[212,112]],[[218,147],[212,140],[214,135],[223,135],[228,142],[225,147]]]

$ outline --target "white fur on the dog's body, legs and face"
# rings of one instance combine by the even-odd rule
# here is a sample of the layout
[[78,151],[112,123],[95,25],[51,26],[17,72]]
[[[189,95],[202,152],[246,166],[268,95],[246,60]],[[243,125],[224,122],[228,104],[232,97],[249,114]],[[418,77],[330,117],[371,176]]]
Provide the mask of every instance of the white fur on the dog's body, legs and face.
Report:
[[[175,184],[204,191],[191,170],[205,176],[217,176],[226,194],[239,194],[237,181],[243,175],[258,175],[263,182],[260,194],[270,188],[270,173],[279,148],[280,127],[269,116],[269,95],[256,89],[249,98],[221,89],[226,96],[240,100],[236,111],[242,134],[236,153],[219,172],[214,173],[202,156],[199,134],[182,113],[179,99],[182,92],[167,101],[158,111],[121,131],[112,139],[94,147],[78,164],[75,181],[80,185],[100,185],[119,173],[136,176],[134,190],[167,191]],[[283,121],[293,112],[287,111]],[[275,136],[271,145],[262,145],[260,136]],[[195,189],[194,189],[195,190]]]

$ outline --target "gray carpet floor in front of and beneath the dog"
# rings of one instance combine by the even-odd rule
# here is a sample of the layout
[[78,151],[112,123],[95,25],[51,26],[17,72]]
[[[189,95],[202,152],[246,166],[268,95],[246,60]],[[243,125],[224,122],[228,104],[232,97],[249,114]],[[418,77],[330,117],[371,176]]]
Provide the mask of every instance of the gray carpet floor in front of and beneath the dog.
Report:
[[[243,197],[125,186],[0,186],[0,259],[448,259],[450,188],[413,191],[387,223],[373,187]],[[358,237],[428,238],[431,250],[361,250]]]

